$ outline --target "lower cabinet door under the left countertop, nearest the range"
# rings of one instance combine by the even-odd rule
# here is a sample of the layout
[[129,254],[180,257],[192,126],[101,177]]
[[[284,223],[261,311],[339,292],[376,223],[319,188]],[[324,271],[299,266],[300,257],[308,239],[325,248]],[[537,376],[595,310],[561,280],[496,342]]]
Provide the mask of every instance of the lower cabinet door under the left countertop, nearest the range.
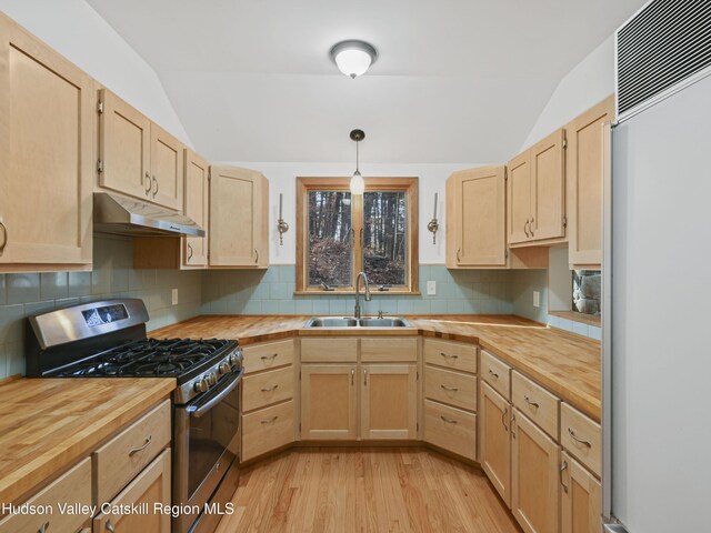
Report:
[[[93,519],[93,533],[170,533],[170,513],[154,513],[153,504],[170,505],[170,449],[163,451],[111,501],[111,513]],[[146,509],[123,514],[121,509]],[[142,507],[141,505],[144,505]],[[123,507],[121,507],[123,506]]]

